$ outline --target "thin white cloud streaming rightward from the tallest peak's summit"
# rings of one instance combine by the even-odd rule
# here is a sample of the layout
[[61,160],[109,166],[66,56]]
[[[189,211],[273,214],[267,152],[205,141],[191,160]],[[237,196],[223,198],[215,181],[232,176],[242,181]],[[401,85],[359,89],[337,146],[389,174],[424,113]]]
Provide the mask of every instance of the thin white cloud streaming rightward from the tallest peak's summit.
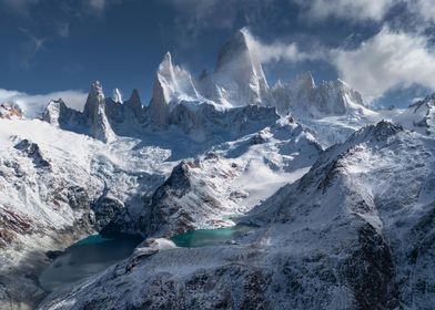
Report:
[[246,29],[241,30],[246,39],[246,43],[252,52],[255,53],[257,59],[262,63],[269,63],[273,61],[286,61],[286,62],[301,62],[313,59],[323,58],[322,52],[311,52],[305,53],[300,51],[297,44],[292,43],[283,43],[280,41],[275,41],[271,44],[265,44],[261,42],[257,38],[252,35],[252,33]]

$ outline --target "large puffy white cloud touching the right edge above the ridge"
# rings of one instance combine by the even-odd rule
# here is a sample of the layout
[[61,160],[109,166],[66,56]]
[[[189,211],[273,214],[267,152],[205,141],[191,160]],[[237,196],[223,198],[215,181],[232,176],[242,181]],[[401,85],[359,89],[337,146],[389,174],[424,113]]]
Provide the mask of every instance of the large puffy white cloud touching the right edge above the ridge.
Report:
[[368,102],[414,84],[435,90],[435,50],[419,34],[384,27],[355,50],[332,51],[331,62]]

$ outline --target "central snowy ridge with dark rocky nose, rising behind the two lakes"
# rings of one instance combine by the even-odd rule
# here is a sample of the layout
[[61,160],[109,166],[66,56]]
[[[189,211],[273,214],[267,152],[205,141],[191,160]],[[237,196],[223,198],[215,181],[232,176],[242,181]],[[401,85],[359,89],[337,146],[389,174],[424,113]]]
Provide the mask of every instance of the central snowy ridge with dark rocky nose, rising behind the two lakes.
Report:
[[121,215],[107,231],[172,236],[199,228],[234,225],[242,215],[281,186],[307,172],[321,152],[300,125],[281,120],[259,133],[214,146],[183,161],[139,214]]

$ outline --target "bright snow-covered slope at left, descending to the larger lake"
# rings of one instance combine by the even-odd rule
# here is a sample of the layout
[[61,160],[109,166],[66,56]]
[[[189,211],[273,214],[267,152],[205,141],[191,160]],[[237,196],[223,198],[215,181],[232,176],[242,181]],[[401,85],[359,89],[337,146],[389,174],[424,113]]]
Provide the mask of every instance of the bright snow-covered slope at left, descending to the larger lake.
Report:
[[44,251],[140,204],[176,164],[163,163],[170,155],[140,141],[108,147],[38,120],[0,120],[0,308],[43,296],[31,275],[49,262]]

